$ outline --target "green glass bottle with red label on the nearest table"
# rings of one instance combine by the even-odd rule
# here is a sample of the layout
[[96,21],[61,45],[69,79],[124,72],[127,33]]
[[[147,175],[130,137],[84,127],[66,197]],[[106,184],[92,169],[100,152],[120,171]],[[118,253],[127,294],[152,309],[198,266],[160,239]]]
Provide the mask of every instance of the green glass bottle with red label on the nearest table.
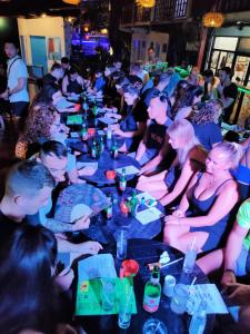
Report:
[[160,271],[157,266],[153,267],[151,278],[146,283],[143,308],[147,312],[157,312],[161,299]]

